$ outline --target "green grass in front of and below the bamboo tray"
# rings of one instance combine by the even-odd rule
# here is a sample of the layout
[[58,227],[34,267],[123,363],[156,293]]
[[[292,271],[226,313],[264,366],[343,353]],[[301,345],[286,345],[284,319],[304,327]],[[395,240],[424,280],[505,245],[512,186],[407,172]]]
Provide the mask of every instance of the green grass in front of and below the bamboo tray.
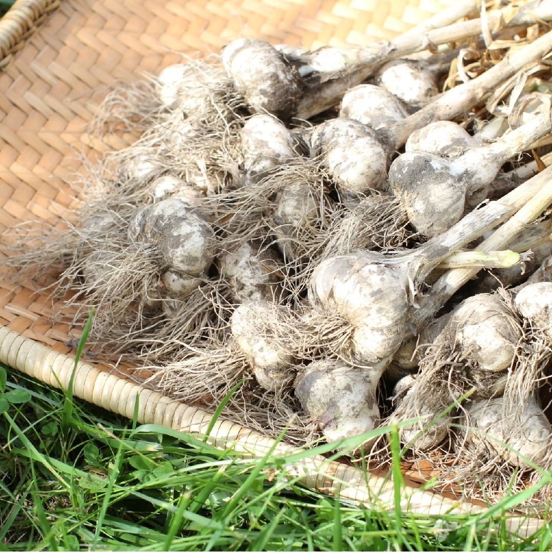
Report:
[[[487,521],[358,507],[297,485],[273,455],[243,460],[171,429],[134,427],[13,370],[5,390],[20,402],[0,414],[0,550],[548,550],[552,544],[548,527],[529,540],[489,531],[501,507]],[[399,454],[398,442],[392,449]],[[512,506],[516,499],[510,500]]]

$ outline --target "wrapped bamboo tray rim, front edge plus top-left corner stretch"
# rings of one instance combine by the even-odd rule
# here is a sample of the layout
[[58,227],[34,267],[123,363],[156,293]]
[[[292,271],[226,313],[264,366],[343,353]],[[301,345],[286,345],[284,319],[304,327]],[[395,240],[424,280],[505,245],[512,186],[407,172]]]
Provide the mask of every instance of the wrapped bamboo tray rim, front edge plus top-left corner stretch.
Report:
[[[61,0],[17,0],[0,20],[0,68],[6,69],[18,52],[24,49],[39,25],[60,8]],[[458,18],[457,18],[458,19]],[[194,434],[205,434],[211,415],[199,408],[165,397],[158,392],[125,380],[116,374],[100,370],[92,364],[78,362],[67,354],[56,351],[35,339],[23,336],[7,326],[0,325],[0,362],[40,379],[56,388],[67,388],[73,368],[75,396],[115,413],[132,418],[136,398],[143,406],[140,423],[161,423],[164,426]],[[105,384],[114,382],[116,393],[105,394]],[[115,385],[116,384],[116,385]],[[274,446],[274,440],[263,437],[239,424],[219,420],[208,436],[215,447],[232,447],[248,455],[262,455]],[[279,443],[275,452],[290,454],[296,449]],[[328,495],[348,498],[370,505],[377,491],[379,499],[393,508],[394,495],[389,481],[377,475],[324,457],[313,455],[296,469],[302,474],[304,485]],[[405,487],[401,496],[404,511],[440,514],[444,511],[480,514],[484,506],[464,500],[453,500],[437,493]],[[507,529],[525,536],[532,535],[544,523],[542,519],[512,515],[506,519]]]

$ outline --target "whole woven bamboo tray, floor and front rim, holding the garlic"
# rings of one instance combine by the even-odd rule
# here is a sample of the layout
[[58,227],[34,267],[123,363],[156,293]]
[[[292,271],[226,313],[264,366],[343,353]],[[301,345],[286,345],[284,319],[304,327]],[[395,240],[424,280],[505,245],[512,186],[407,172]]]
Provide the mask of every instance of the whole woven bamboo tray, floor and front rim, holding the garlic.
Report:
[[[86,127],[116,82],[158,73],[182,53],[219,52],[240,36],[311,49],[390,39],[445,7],[447,0],[18,0],[0,21],[0,232],[20,222],[60,219],[73,204],[66,182],[84,170],[77,152],[93,159],[106,147],[91,144]],[[9,275],[0,276],[0,362],[67,385],[74,364],[70,343],[78,332],[52,317],[61,304],[35,293],[32,284],[15,286]],[[114,392],[107,395],[109,383]],[[73,393],[129,417],[139,395],[140,422],[194,433],[209,424],[206,413],[141,388],[102,363],[79,364]],[[273,445],[224,421],[215,424],[210,440],[252,455]],[[312,488],[367,503],[376,492],[391,507],[392,487],[381,477],[322,457],[296,468]],[[405,490],[401,507],[482,510],[415,489]],[[534,519],[514,517],[508,528],[531,534],[537,527]]]

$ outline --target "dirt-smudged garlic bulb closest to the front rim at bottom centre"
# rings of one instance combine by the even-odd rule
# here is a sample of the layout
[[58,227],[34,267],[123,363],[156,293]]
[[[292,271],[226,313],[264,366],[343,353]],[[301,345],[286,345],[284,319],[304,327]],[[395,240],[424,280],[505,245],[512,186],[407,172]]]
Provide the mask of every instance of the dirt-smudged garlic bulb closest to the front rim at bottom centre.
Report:
[[328,442],[354,437],[378,425],[376,389],[387,363],[358,369],[323,359],[309,364],[295,378],[295,395]]

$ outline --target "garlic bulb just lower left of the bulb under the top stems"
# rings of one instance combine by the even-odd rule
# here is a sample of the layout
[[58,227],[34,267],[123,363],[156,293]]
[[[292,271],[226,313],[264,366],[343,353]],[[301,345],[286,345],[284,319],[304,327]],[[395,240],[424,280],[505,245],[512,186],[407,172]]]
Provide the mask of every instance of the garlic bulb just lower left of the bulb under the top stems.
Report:
[[380,130],[405,119],[408,110],[399,98],[384,88],[359,84],[343,96],[339,116]]

